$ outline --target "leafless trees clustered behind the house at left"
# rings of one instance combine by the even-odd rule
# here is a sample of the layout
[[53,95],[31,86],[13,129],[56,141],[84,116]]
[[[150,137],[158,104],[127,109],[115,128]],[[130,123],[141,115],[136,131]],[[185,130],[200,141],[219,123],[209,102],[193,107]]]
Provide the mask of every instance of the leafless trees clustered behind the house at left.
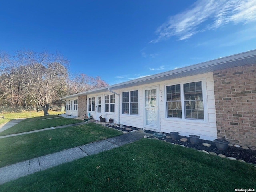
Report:
[[59,53],[20,50],[14,57],[0,52],[0,112],[26,109],[30,103],[44,114],[50,105],[60,107],[60,97],[108,86],[100,77],[68,76],[68,60]]

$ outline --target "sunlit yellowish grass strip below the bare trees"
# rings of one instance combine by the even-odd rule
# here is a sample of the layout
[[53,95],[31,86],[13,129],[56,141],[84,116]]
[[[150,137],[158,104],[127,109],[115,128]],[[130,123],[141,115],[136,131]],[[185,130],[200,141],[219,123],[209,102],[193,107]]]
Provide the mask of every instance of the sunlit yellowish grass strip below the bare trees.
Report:
[[[63,112],[60,111],[48,111],[50,115],[58,115],[62,114]],[[30,118],[30,117],[39,117],[39,116],[44,116],[43,111],[31,112],[22,112],[22,113],[0,113],[0,116],[4,116],[5,119],[0,119],[0,125],[9,122],[10,120],[16,119],[16,118]]]

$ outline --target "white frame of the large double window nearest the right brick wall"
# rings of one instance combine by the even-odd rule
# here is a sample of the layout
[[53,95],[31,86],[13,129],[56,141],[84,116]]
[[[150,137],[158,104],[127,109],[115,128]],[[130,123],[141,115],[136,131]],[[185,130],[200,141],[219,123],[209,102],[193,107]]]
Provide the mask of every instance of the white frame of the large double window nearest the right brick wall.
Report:
[[[184,102],[184,84],[192,83],[192,82],[202,82],[202,98],[203,98],[203,107],[204,107],[204,120],[202,119],[189,119],[185,116],[185,102]],[[166,94],[166,87],[171,85],[180,84],[180,92],[181,92],[181,105],[182,105],[182,118],[175,118],[175,117],[167,117],[167,94]],[[209,124],[208,120],[208,102],[207,102],[207,87],[206,87],[206,78],[195,78],[193,80],[184,80],[184,81],[174,81],[171,84],[166,84],[164,86],[164,95],[165,95],[165,120],[173,121],[173,122],[188,122],[188,123],[196,123],[196,124]]]

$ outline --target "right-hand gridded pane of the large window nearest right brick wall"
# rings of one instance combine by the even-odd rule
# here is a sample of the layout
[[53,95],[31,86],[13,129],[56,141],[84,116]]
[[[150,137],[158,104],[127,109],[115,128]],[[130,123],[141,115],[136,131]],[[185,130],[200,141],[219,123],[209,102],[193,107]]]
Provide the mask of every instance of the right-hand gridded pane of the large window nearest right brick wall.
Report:
[[184,84],[185,116],[187,119],[204,120],[202,82]]

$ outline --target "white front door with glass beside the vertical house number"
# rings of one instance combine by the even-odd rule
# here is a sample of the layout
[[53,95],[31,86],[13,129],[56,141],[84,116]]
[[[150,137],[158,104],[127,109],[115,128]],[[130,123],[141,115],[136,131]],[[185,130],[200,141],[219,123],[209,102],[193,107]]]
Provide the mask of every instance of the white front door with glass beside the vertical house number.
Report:
[[159,130],[158,126],[158,92],[157,88],[149,88],[144,90],[144,127],[152,130]]

